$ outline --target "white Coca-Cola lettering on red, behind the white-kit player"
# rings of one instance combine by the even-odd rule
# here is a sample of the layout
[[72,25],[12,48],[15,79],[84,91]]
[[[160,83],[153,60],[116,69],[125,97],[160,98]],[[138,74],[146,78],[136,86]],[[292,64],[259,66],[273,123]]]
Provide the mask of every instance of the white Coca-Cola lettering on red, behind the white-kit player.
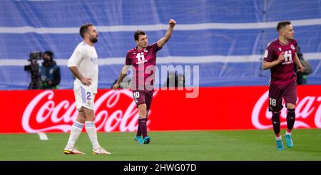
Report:
[[[154,96],[157,91],[154,93]],[[24,110],[22,127],[26,132],[68,132],[78,111],[76,102],[54,100],[55,92],[46,90],[36,95]],[[121,105],[120,105],[121,104]],[[137,129],[138,110],[129,90],[109,90],[95,101],[97,131],[133,132]],[[151,114],[149,110],[148,114]],[[147,124],[150,124],[148,120]]]

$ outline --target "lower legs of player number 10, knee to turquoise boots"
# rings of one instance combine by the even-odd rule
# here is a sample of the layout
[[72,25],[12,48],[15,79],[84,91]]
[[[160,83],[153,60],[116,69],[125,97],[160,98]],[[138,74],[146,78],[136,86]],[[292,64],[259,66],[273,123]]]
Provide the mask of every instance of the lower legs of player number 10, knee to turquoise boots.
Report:
[[141,129],[141,134],[143,136],[142,141],[136,136],[140,144],[148,144],[151,142],[151,138],[147,134],[147,106],[146,103],[138,105],[138,128]]

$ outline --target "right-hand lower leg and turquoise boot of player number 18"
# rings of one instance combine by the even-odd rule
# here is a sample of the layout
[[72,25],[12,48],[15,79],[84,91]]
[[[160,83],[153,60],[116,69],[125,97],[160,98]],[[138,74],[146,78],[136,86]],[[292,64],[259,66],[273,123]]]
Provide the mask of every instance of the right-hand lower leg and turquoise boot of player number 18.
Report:
[[295,105],[292,103],[287,103],[287,132],[285,132],[285,141],[287,147],[293,147],[293,141],[291,137],[291,130],[293,129],[295,123]]

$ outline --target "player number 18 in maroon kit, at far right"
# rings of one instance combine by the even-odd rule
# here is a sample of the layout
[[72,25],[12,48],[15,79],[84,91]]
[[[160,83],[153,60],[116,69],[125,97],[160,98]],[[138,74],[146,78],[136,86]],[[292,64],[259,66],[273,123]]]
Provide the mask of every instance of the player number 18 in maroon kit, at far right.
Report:
[[272,112],[272,125],[275,132],[278,150],[283,150],[282,137],[280,136],[280,111],[282,110],[282,98],[287,107],[287,131],[285,141],[287,147],[293,147],[291,130],[295,123],[295,104],[297,101],[297,83],[294,63],[298,71],[305,68],[297,57],[297,41],[293,38],[295,31],[290,21],[277,23],[279,37],[268,44],[263,59],[263,70],[271,70],[269,88],[269,110]]

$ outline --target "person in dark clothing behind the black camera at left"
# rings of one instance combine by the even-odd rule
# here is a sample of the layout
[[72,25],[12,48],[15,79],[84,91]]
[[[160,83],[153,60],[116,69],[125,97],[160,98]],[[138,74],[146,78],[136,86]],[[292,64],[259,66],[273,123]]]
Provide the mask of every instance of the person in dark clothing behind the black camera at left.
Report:
[[60,83],[60,68],[54,61],[54,53],[45,51],[40,67],[41,89],[56,89]]

